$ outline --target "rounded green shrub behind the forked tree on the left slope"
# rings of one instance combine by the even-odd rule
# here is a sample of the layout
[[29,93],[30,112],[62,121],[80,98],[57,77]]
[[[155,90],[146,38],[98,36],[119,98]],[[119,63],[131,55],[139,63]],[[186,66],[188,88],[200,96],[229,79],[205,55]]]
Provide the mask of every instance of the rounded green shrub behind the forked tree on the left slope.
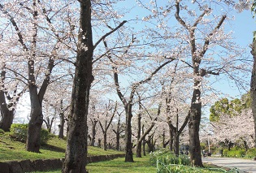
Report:
[[[11,136],[16,141],[25,142],[27,140],[28,123],[26,124],[13,123],[11,124],[10,132],[11,132]],[[49,139],[50,139],[50,133],[46,129],[41,128],[40,144],[46,145]]]

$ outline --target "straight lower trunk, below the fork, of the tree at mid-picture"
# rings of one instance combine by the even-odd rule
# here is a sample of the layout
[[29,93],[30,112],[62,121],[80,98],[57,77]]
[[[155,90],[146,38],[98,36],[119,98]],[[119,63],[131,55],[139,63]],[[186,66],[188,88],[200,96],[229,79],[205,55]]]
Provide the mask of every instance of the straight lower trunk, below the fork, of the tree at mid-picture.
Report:
[[126,107],[125,162],[133,162],[132,156],[132,106]]

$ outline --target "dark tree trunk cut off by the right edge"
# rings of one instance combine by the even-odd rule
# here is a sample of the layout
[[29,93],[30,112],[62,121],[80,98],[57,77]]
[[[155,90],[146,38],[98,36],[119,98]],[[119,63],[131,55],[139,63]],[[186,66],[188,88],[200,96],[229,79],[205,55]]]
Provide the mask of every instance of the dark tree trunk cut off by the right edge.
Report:
[[256,41],[253,41],[251,53],[254,56],[254,66],[250,82],[251,108],[254,117],[254,148],[256,148]]

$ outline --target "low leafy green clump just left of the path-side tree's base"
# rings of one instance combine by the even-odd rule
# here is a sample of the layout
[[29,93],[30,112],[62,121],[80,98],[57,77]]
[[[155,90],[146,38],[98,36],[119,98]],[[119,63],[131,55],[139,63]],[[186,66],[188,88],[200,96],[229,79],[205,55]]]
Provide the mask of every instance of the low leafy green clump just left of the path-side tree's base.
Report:
[[162,162],[165,165],[190,165],[190,160],[187,155],[179,155],[179,157],[177,157],[176,154],[173,154],[170,149],[160,149],[150,153],[150,163],[152,165],[157,165],[158,162]]

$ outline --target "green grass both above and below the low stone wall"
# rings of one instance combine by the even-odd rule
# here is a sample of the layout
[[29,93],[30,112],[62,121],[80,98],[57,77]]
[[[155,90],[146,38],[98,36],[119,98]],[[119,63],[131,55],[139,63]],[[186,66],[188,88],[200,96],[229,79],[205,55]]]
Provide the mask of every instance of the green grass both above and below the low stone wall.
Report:
[[[13,140],[9,133],[0,134],[0,162],[20,161],[25,159],[49,159],[49,158],[64,158],[66,141],[53,137],[48,141],[47,145],[41,146],[40,154],[28,152],[25,149],[25,144]],[[104,151],[98,147],[90,147],[88,149],[89,156],[108,155],[108,154],[124,154],[116,150],[108,149]],[[150,155],[143,158],[135,158],[135,162],[124,162],[124,158],[115,158],[106,162],[93,162],[86,166],[90,173],[150,173],[157,172],[157,167],[150,164]],[[209,167],[209,166],[208,166]],[[212,166],[210,166],[212,167]],[[45,173],[59,173],[61,170],[45,171]],[[37,172],[40,173],[40,172]]]

